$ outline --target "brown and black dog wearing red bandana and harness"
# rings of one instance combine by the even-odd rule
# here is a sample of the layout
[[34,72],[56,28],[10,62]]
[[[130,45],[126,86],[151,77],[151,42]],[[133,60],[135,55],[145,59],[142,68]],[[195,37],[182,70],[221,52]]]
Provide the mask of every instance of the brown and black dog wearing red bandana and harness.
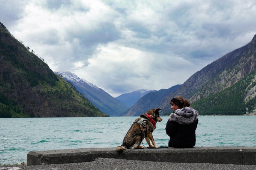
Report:
[[[143,149],[140,146],[145,138],[149,147],[158,148],[152,136],[152,132],[156,129],[156,122],[161,122],[163,119],[159,115],[160,108],[148,110],[147,113],[141,114],[139,118],[135,119],[131,128],[126,133],[123,144],[116,147],[118,153],[122,153],[126,149]],[[150,141],[152,144],[150,144]]]

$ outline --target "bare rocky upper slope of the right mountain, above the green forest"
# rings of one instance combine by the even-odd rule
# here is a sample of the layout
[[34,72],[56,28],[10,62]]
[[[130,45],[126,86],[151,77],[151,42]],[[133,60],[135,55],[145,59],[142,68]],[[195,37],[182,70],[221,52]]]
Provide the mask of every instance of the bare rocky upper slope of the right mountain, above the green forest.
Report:
[[[182,84],[180,89],[166,96],[158,107],[162,107],[164,112],[168,112],[167,107],[172,97],[182,95],[193,103],[223,91],[247,76],[252,70],[255,70],[255,37],[245,46],[233,50],[197,71]],[[202,83],[202,81],[204,82]]]

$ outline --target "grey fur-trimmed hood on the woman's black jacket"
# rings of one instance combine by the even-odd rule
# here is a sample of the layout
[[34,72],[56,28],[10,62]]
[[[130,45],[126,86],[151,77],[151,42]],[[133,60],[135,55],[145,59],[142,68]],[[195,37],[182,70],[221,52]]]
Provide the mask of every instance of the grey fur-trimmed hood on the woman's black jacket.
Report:
[[170,115],[169,120],[179,124],[191,124],[196,121],[198,112],[192,107],[177,109]]

